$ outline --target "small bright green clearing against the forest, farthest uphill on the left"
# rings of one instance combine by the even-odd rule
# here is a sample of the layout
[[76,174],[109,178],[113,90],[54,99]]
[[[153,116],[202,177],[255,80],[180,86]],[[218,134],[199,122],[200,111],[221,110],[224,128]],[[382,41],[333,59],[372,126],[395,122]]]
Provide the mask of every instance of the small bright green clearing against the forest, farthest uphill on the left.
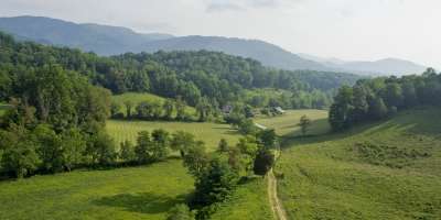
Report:
[[[143,94],[137,94],[137,92],[126,92],[117,96],[112,96],[112,101],[116,103],[119,103],[121,106],[121,112],[126,114],[126,106],[125,102],[130,100],[135,106],[142,101],[159,101],[163,103],[165,101],[165,98],[159,97],[157,95],[143,92]],[[135,108],[133,108],[135,109]],[[194,114],[196,111],[193,107],[186,107],[186,112],[190,114]]]

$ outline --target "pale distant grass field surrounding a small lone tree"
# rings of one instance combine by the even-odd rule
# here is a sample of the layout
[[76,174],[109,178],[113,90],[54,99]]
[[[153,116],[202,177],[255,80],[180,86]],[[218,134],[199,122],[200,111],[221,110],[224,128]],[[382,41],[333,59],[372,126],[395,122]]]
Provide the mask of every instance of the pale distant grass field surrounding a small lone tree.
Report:
[[278,135],[297,136],[301,134],[298,123],[302,116],[306,116],[312,121],[306,134],[323,134],[329,131],[327,111],[325,110],[288,110],[282,116],[260,117],[255,121],[267,128],[276,129]]

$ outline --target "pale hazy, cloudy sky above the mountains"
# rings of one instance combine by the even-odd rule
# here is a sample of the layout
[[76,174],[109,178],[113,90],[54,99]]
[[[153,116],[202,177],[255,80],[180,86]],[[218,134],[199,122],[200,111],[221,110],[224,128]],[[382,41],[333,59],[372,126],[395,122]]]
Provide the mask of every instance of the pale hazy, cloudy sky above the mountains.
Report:
[[441,67],[441,0],[0,0],[0,16],[23,14]]

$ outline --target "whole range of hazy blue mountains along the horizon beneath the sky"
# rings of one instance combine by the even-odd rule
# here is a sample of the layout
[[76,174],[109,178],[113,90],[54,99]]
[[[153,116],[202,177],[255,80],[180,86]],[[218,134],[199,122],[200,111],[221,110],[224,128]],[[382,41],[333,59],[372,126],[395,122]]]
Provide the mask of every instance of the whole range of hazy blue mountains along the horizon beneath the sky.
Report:
[[44,16],[0,18],[0,31],[19,40],[92,51],[100,55],[127,52],[218,51],[249,57],[263,65],[282,69],[348,72],[355,74],[420,74],[426,67],[401,59],[345,62],[293,54],[280,46],[257,40],[220,36],[173,36],[162,33],[142,34],[127,28],[100,24],[77,24]]

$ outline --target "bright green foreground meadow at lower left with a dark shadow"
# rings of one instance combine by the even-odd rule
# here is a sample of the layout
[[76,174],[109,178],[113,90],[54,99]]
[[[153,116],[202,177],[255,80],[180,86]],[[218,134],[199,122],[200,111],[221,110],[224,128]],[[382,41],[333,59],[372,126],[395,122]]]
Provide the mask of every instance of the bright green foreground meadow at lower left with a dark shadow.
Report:
[[192,177],[174,160],[36,176],[0,183],[0,219],[165,219],[192,189]]

